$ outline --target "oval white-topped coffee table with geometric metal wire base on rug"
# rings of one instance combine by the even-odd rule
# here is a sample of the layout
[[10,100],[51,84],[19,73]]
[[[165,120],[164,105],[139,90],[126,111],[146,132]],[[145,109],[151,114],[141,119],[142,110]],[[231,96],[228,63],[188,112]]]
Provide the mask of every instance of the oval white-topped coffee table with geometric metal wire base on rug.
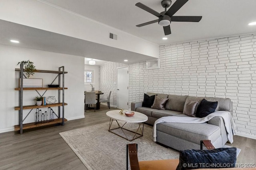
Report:
[[[146,115],[144,115],[143,113],[140,113],[138,111],[133,111],[134,115],[133,116],[126,116],[124,113],[128,110],[124,110],[123,114],[120,114],[121,110],[111,110],[108,111],[106,113],[106,115],[108,117],[110,117],[110,122],[109,122],[109,128],[108,131],[118,135],[117,133],[115,133],[113,130],[115,129],[121,129],[122,133],[125,135],[125,137],[118,135],[124,139],[127,139],[128,141],[133,141],[134,139],[137,139],[139,137],[143,136],[143,129],[144,129],[144,122],[148,120],[148,117]],[[113,121],[116,121],[116,123],[118,124],[117,128],[113,128],[111,129],[111,125],[113,123]],[[120,123],[118,123],[118,121],[125,121],[125,123],[123,125],[120,125]],[[124,125],[129,122],[129,123],[138,123],[138,129],[136,131],[131,131],[129,129],[124,128]],[[125,133],[125,131],[130,131],[132,133],[134,133],[134,136],[132,137],[132,139],[128,138],[127,133]],[[140,133],[138,133],[140,132]],[[137,137],[136,137],[137,136]]]

